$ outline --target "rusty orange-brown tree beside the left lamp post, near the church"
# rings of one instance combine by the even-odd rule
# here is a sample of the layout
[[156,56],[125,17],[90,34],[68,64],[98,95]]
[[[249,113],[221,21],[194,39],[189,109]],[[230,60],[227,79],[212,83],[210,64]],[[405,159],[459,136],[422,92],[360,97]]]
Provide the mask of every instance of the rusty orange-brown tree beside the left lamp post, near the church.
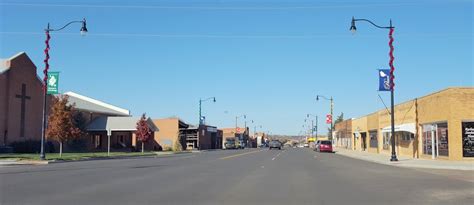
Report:
[[64,142],[83,135],[83,132],[74,124],[73,113],[74,105],[68,105],[68,96],[53,97],[46,136],[59,142],[60,157],[63,153]]

